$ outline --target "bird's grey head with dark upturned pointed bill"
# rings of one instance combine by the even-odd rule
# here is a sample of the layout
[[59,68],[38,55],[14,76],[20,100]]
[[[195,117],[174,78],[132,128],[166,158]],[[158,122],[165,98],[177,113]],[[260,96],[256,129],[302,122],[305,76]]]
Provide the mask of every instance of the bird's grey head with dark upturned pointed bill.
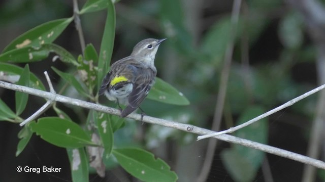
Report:
[[155,58],[155,55],[157,53],[159,44],[161,42],[163,42],[164,40],[166,40],[166,38],[164,38],[164,39],[147,38],[147,39],[141,40],[133,48],[131,56],[143,57],[143,58],[145,58],[145,60],[153,61]]

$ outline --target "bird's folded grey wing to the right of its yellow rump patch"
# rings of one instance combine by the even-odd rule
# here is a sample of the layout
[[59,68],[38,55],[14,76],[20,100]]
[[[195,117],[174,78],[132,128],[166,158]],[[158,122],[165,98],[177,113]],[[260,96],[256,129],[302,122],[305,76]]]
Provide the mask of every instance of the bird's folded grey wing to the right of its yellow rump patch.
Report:
[[141,102],[146,98],[149,90],[154,83],[155,72],[150,69],[141,69],[135,80],[133,91],[128,96],[128,105],[122,111],[121,117],[125,117],[135,111],[141,104]]

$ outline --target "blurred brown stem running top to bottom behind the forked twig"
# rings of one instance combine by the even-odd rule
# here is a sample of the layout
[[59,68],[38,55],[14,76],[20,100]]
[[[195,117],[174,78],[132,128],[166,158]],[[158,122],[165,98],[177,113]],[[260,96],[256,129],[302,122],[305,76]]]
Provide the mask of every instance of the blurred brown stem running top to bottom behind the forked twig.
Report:
[[[221,78],[220,78],[220,85],[219,85],[219,92],[216,100],[216,107],[214,111],[213,116],[213,123],[212,123],[212,130],[219,130],[221,118],[222,118],[222,111],[224,106],[224,100],[228,85],[228,79],[229,79],[229,73],[230,73],[230,67],[232,63],[233,58],[233,52],[234,52],[234,44],[235,44],[235,37],[236,37],[236,29],[239,19],[239,13],[240,13],[240,5],[241,0],[234,1],[233,4],[233,11],[232,11],[232,17],[231,17],[231,29],[230,29],[230,40],[228,42],[225,57],[224,57],[224,65],[221,72]],[[202,166],[201,173],[198,177],[199,182],[206,181],[211,164],[214,157],[215,148],[217,145],[217,140],[211,139],[208,143],[208,149],[205,156],[205,160]]]

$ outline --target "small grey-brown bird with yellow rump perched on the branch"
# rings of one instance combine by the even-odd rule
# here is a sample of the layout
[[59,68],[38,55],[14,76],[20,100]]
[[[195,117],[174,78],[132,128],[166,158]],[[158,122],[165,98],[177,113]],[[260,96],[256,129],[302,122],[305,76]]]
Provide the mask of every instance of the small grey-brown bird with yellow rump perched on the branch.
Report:
[[[164,40],[166,38],[140,41],[130,56],[116,61],[106,74],[99,95],[105,94],[108,100],[116,101],[121,117],[135,111],[148,95],[157,74],[154,58]],[[126,108],[122,110],[119,104],[126,105]]]

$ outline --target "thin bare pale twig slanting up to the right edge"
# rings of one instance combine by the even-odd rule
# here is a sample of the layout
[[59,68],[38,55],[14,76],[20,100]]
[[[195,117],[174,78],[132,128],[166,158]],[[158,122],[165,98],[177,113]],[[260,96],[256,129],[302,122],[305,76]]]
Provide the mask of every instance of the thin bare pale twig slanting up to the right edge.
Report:
[[240,125],[238,125],[236,127],[231,127],[229,129],[219,131],[219,132],[215,132],[215,133],[212,133],[212,134],[198,136],[198,141],[202,140],[202,139],[210,138],[210,137],[213,137],[213,136],[216,136],[216,135],[234,132],[234,131],[236,131],[238,129],[241,129],[241,128],[245,127],[245,126],[248,126],[248,125],[250,125],[250,124],[252,124],[252,123],[254,123],[254,122],[256,122],[256,121],[258,121],[260,119],[263,119],[263,118],[265,118],[265,117],[267,117],[267,116],[269,116],[271,114],[274,114],[274,113],[276,113],[276,112],[278,112],[278,111],[280,111],[280,110],[282,110],[282,109],[284,109],[286,107],[289,107],[289,106],[297,103],[298,101],[300,101],[302,99],[305,99],[306,97],[308,97],[308,96],[310,96],[312,94],[315,94],[316,92],[319,92],[319,90],[322,90],[324,88],[325,88],[325,84],[323,84],[321,86],[318,86],[317,88],[314,88],[314,89],[310,90],[309,92],[307,92],[307,93],[305,93],[305,94],[303,94],[303,95],[301,95],[301,96],[299,96],[299,97],[297,97],[297,98],[295,98],[293,100],[290,100],[290,101],[286,102],[285,104],[283,104],[283,105],[281,105],[279,107],[276,107],[276,108],[274,108],[274,109],[272,109],[272,110],[270,110],[270,111],[268,111],[268,112],[266,112],[266,113],[264,113],[262,115],[259,115],[259,116],[255,117],[255,118],[253,118],[253,119],[251,119],[251,120],[249,120],[249,121],[247,121],[247,122],[245,122],[243,124],[240,124]]

